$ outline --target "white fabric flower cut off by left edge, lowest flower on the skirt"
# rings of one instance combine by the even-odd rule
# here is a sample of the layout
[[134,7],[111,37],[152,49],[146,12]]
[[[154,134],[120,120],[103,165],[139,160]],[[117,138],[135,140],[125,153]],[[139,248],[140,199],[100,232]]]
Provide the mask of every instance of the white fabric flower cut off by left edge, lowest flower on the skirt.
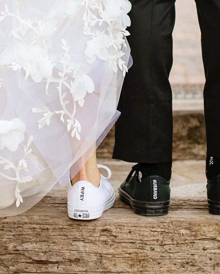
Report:
[[25,123],[15,118],[12,121],[0,121],[0,149],[7,147],[10,151],[15,152],[19,144],[24,141]]

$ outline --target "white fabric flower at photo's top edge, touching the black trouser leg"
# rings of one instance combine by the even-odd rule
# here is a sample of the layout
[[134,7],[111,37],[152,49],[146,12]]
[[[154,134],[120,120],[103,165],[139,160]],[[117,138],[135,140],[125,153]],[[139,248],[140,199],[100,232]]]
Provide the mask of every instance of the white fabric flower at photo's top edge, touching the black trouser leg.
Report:
[[110,21],[120,18],[124,27],[130,27],[131,19],[127,15],[131,11],[132,4],[128,0],[108,0],[105,4]]

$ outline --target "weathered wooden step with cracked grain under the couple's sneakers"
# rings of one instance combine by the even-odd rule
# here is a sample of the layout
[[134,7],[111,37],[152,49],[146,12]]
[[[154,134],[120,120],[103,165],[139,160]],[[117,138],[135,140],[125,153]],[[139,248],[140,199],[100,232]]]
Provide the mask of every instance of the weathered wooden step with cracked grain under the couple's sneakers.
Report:
[[[102,163],[117,189],[131,164]],[[207,211],[204,162],[175,162],[171,188],[169,215],[135,215],[117,199],[87,222],[69,219],[66,190],[52,190],[0,219],[0,273],[220,273],[220,217]]]

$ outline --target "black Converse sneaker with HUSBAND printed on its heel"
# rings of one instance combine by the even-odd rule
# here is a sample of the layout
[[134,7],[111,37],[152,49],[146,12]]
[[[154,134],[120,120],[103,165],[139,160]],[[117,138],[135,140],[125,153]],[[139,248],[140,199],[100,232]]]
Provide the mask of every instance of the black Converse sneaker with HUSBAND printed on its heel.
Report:
[[160,176],[149,176],[142,180],[142,175],[135,165],[119,188],[120,198],[129,204],[136,214],[165,215],[169,211],[169,183],[170,180],[166,181]]

